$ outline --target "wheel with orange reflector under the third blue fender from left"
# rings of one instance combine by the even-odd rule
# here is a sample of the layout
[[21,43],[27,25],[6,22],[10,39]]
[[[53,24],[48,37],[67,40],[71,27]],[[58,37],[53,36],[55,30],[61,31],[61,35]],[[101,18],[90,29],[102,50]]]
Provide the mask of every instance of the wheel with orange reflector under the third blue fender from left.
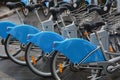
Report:
[[28,44],[25,59],[27,66],[33,73],[42,77],[52,76],[50,72],[49,58],[45,57],[43,51],[33,43]]

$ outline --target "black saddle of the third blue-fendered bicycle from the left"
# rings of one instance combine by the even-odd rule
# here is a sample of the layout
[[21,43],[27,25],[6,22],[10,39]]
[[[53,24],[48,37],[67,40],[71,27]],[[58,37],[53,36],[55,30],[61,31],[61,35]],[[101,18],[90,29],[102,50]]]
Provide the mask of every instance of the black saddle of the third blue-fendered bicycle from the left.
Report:
[[61,13],[65,10],[67,10],[67,7],[51,7],[50,12],[53,16],[53,20],[57,20],[58,16],[61,15]]

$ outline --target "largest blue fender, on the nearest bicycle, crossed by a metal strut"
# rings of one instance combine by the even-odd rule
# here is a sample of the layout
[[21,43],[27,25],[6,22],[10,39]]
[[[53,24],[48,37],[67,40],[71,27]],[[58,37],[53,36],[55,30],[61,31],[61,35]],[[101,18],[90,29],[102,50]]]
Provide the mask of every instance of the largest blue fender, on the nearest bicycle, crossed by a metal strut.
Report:
[[[96,49],[97,46],[84,39],[72,38],[61,42],[54,42],[54,50],[64,54],[72,63],[80,63],[88,53]],[[96,50],[83,63],[105,61],[100,49]]]

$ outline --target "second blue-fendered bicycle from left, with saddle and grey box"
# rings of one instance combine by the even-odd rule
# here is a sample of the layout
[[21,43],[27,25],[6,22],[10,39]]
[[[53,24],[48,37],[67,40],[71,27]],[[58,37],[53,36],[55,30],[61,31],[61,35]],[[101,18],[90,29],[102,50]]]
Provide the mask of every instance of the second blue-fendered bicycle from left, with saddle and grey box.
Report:
[[[41,24],[40,29],[42,31],[54,31],[54,23],[51,20],[51,18],[43,22],[41,21],[36,9],[40,7],[39,5],[33,5],[32,7],[31,6],[28,6],[28,7],[30,10],[35,10],[36,16],[38,17],[38,20]],[[32,32],[32,29],[33,29],[33,32]],[[25,53],[25,49],[27,46],[27,35],[35,34],[37,32],[40,32],[40,30],[38,30],[37,28],[33,28],[33,26],[30,26],[30,25],[17,25],[14,28],[10,28],[10,30],[8,29],[9,35],[5,40],[5,51],[13,62],[21,65],[26,65],[25,57],[23,54]],[[21,36],[18,36],[18,35],[21,35]],[[14,45],[14,46],[12,46],[11,48],[11,45]],[[16,46],[17,46],[17,49],[16,49]]]

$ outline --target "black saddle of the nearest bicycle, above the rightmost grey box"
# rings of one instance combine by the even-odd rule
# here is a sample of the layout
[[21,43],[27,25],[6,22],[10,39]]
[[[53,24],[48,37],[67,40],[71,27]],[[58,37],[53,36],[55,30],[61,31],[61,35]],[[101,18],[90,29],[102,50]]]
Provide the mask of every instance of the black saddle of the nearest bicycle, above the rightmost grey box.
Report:
[[99,28],[99,27],[101,27],[103,25],[105,25],[104,22],[95,22],[95,23],[93,23],[93,22],[85,22],[85,23],[83,23],[82,26],[88,32],[92,32],[92,30],[95,30],[95,29],[97,29],[97,28]]

